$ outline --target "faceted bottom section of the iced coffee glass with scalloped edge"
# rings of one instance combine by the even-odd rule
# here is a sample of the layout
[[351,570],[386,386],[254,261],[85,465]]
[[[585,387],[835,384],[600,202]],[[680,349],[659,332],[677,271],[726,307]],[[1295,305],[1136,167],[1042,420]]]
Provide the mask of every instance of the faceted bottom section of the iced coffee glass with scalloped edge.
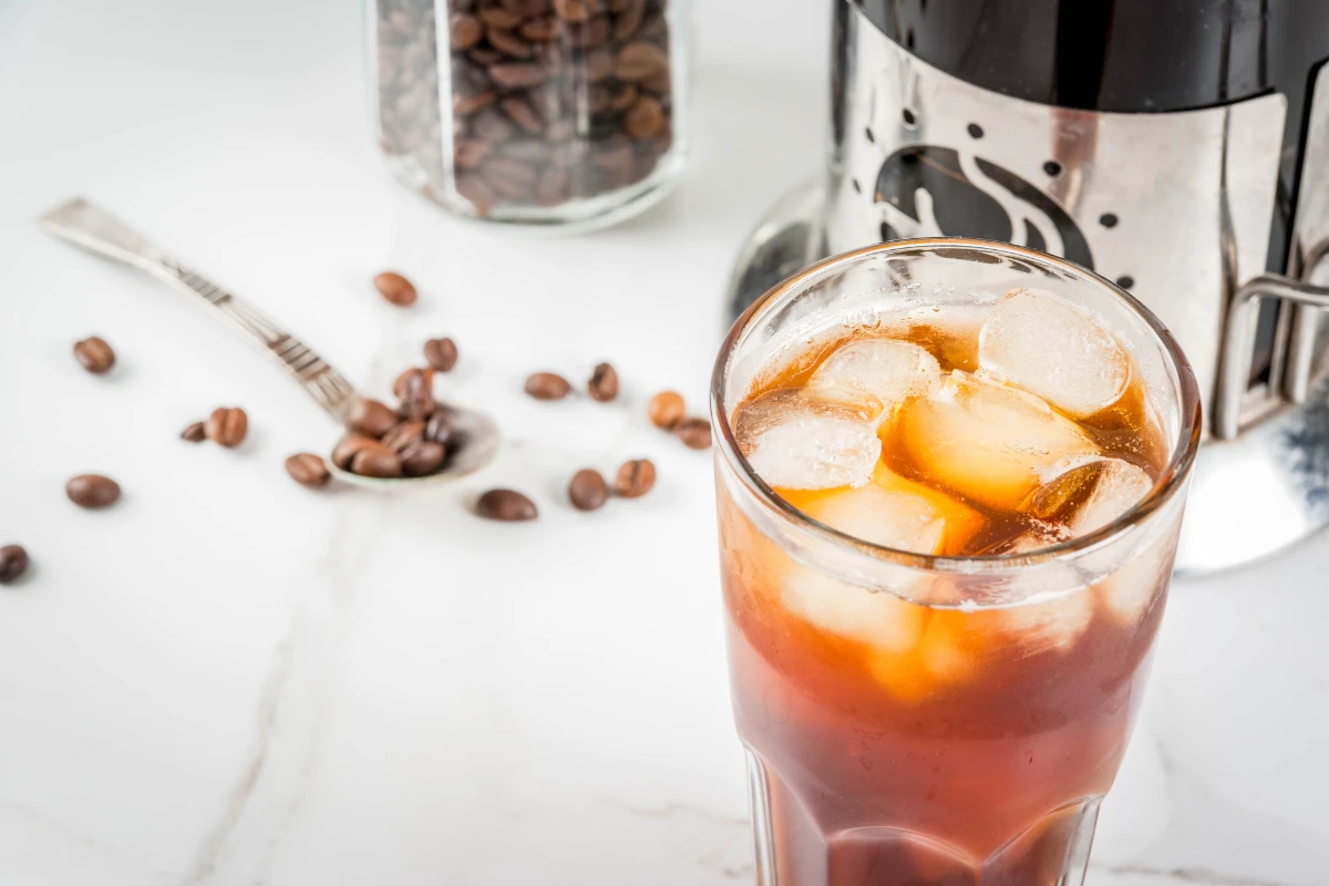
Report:
[[[1082,886],[1102,797],[1055,809],[973,858],[924,833],[877,826],[828,830],[815,804],[744,745],[758,886]],[[812,789],[820,794],[821,786]],[[867,818],[870,809],[860,810]]]

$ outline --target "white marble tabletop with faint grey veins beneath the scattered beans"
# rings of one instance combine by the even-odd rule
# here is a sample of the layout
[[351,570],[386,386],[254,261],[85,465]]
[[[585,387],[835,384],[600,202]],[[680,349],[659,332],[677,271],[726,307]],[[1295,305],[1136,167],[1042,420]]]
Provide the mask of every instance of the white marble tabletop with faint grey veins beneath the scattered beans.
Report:
[[[755,11],[766,9],[754,20]],[[514,240],[387,179],[356,0],[0,4],[0,883],[743,883],[706,454],[645,397],[700,404],[732,252],[821,151],[824,4],[700,0],[695,163],[603,234]],[[105,202],[383,391],[462,359],[501,460],[456,489],[314,494],[332,436],[207,316],[44,239]],[[423,291],[397,311],[367,279]],[[108,337],[109,377],[73,340]],[[619,404],[545,405],[533,368],[610,359]],[[242,404],[238,452],[175,434]],[[649,498],[585,515],[582,465],[650,456]],[[69,505],[102,472],[112,511]],[[529,490],[534,526],[469,517]],[[1094,886],[1329,882],[1329,538],[1180,586]]]

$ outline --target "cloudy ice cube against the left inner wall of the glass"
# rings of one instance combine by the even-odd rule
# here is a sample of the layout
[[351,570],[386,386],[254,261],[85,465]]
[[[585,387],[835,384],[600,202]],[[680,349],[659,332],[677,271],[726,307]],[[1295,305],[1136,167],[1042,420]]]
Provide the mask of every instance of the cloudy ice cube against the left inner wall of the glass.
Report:
[[739,408],[734,434],[752,470],[776,489],[863,486],[881,457],[878,410],[780,389]]

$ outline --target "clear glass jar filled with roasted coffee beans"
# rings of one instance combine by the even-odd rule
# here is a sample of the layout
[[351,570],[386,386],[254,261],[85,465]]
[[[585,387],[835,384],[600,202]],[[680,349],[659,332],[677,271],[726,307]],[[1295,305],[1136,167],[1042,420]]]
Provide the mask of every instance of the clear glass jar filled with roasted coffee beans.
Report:
[[599,227],[678,178],[684,0],[373,0],[368,13],[379,146],[440,206]]

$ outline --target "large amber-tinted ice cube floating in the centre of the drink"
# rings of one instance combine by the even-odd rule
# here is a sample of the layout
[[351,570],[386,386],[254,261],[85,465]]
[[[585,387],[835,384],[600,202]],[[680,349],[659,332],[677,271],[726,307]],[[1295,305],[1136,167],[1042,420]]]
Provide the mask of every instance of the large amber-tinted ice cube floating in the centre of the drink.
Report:
[[924,476],[999,510],[1025,506],[1058,462],[1098,454],[1038,397],[958,369],[901,406],[890,440]]

